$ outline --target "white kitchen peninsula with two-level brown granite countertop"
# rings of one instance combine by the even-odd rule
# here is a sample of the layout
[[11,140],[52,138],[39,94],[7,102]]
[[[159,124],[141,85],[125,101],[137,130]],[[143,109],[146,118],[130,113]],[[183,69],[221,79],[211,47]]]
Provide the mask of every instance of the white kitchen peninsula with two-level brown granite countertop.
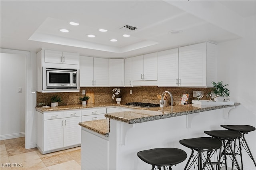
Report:
[[[221,129],[229,111],[238,105],[240,103],[199,108],[188,104],[163,110],[159,107],[138,109],[107,113],[105,120],[81,122],[81,167],[150,169],[151,166],[136,155],[150,148],[181,148],[189,154],[191,151],[181,146],[179,140],[206,136],[205,130]],[[183,169],[184,162],[175,169]]]

